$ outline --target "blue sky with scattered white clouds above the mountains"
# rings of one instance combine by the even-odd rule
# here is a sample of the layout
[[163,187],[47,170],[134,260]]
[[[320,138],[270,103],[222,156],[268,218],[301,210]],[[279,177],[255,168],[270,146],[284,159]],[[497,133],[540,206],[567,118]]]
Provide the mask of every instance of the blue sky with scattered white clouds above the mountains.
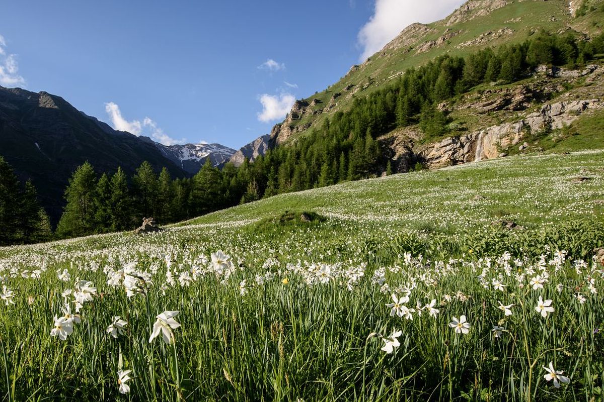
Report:
[[0,85],[164,143],[239,148],[406,25],[461,2],[4,2]]

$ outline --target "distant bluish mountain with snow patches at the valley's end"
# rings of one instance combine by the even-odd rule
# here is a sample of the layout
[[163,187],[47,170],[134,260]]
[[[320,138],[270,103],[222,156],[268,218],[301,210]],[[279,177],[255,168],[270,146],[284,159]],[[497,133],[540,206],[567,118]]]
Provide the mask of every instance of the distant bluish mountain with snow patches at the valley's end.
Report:
[[[141,137],[149,140],[148,137]],[[171,160],[175,165],[190,175],[199,172],[207,159],[213,166],[222,168],[228,162],[235,150],[220,144],[185,144],[185,145],[163,145],[154,142],[162,155]]]

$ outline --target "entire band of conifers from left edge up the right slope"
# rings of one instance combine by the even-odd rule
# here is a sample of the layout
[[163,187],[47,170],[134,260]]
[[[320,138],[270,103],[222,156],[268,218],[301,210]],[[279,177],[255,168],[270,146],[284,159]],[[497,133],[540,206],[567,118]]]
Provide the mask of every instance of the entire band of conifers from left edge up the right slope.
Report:
[[[355,98],[349,110],[336,112],[321,127],[286,146],[275,147],[254,163],[245,160],[239,168],[228,163],[217,169],[208,161],[193,178],[172,180],[166,169],[154,172],[147,162],[132,177],[120,168],[98,176],[85,163],[74,172],[65,190],[67,204],[56,236],[131,230],[150,216],[167,224],[279,193],[390,174],[390,155],[382,149],[378,136],[408,125],[419,125],[426,140],[443,136],[450,119],[438,107],[440,102],[479,84],[520,80],[541,64],[574,68],[603,53],[604,34],[587,42],[571,35],[538,33],[524,43],[484,49],[464,58],[439,57],[420,68],[408,69],[383,89]],[[2,181],[4,177],[3,172]],[[0,223],[7,225],[4,222],[12,219],[10,227],[14,229],[8,231],[10,235],[0,234],[4,236],[0,242],[46,238],[50,225],[40,222],[48,222],[48,218],[37,204],[23,201],[35,199],[31,183],[10,186],[13,195],[7,196],[7,190],[1,189]],[[17,199],[21,201],[12,201]],[[11,208],[28,208],[28,212],[5,212]],[[24,221],[24,217],[32,216],[40,217],[36,230],[31,229],[32,222]]]

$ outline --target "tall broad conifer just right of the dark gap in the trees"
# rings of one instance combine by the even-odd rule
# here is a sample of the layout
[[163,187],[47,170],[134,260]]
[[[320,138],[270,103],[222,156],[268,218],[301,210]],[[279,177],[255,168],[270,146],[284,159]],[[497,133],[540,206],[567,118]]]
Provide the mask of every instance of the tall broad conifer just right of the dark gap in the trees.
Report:
[[57,234],[60,237],[94,233],[96,184],[97,175],[88,162],[79,166],[69,179],[69,186],[65,190],[67,205],[57,225]]

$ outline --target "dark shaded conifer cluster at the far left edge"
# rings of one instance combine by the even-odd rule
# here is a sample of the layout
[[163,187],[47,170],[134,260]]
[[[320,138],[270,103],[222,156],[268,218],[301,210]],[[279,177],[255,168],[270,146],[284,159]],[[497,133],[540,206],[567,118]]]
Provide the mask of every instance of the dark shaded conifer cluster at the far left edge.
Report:
[[31,181],[21,183],[0,156],[0,245],[42,242],[51,234],[36,188]]

